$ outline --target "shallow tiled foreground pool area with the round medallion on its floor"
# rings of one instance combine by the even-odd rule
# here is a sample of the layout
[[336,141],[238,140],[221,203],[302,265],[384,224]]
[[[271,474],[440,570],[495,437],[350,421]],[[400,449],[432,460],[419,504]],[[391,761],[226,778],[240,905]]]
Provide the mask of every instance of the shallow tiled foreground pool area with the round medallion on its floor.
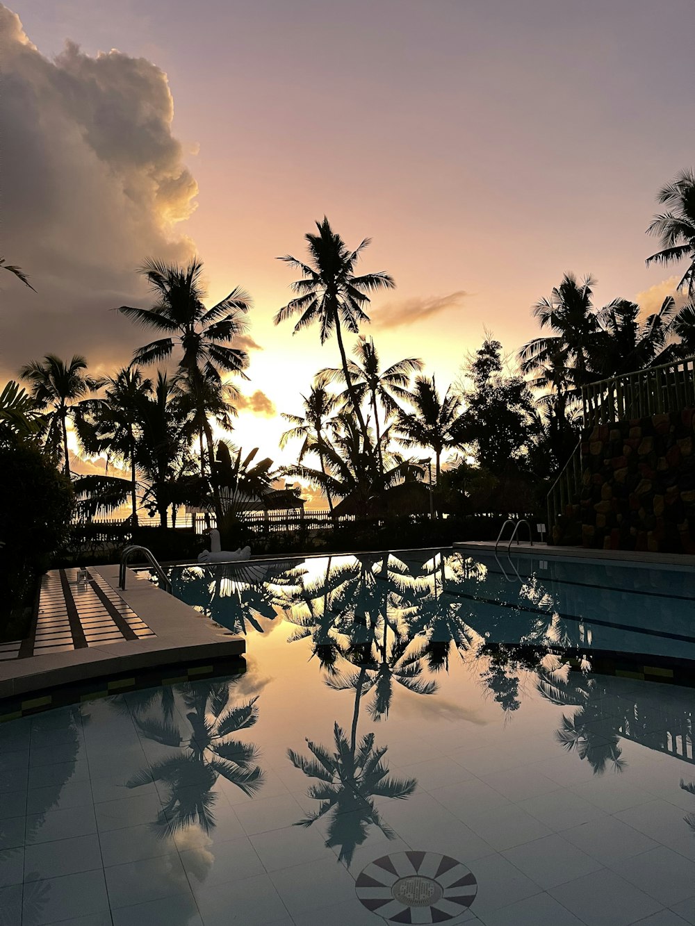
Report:
[[695,923],[695,692],[260,624],[245,675],[0,727],[2,926]]

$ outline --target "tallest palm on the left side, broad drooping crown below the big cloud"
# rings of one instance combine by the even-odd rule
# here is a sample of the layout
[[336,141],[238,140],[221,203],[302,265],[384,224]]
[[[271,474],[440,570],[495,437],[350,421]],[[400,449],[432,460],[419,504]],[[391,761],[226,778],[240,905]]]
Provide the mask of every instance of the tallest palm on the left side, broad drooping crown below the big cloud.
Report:
[[230,344],[247,330],[243,316],[251,307],[251,299],[237,286],[217,305],[206,308],[203,303],[205,290],[200,280],[203,264],[196,257],[186,267],[148,258],[139,272],[146,277],[157,302],[152,308],[121,306],[119,311],[168,336],[139,347],[133,354],[133,362],[149,364],[166,360],[176,347],[179,348],[179,372],[196,408],[201,459],[205,437],[215,514],[221,519],[208,415],[224,416],[222,374],[234,373],[246,379],[244,370],[248,366],[248,355]]

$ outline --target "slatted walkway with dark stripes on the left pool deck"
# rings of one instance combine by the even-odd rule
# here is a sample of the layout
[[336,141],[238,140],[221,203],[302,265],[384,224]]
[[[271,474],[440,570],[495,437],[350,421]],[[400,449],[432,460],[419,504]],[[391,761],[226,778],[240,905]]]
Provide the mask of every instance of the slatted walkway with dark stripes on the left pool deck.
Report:
[[156,635],[97,572],[87,576],[78,585],[77,569],[47,572],[30,636],[0,644],[0,662]]

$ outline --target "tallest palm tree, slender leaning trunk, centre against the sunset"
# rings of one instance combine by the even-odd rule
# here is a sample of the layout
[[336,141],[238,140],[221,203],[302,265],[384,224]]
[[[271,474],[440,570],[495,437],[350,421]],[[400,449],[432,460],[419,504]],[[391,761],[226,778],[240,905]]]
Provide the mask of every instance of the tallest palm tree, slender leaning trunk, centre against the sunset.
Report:
[[295,334],[313,322],[318,322],[322,344],[335,332],[347,393],[367,444],[367,430],[347,366],[342,328],[344,326],[347,332],[357,334],[360,323],[370,320],[364,311],[370,303],[368,294],[380,289],[392,289],[396,283],[384,271],[354,275],[355,264],[371,239],[365,238],[354,251],[350,251],[325,216],[322,222],[316,223],[316,227],[318,234],[309,232],[304,236],[309,245],[309,264],[291,255],[279,258],[301,270],[304,276],[292,283],[297,298],[281,308],[273,321],[278,325],[298,315],[293,332]]

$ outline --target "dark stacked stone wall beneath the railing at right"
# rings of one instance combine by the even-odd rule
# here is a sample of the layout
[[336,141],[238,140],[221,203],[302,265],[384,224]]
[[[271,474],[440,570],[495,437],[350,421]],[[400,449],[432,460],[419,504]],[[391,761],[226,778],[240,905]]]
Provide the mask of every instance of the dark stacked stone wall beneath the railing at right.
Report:
[[586,432],[573,507],[582,544],[695,553],[694,444],[695,408]]

